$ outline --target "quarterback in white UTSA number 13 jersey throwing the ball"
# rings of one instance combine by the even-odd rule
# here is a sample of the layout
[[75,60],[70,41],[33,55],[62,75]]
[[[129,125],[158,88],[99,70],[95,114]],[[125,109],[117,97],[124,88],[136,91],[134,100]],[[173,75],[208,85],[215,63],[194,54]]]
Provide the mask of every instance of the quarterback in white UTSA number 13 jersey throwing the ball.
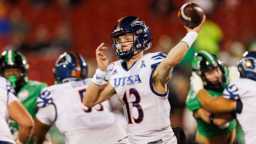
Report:
[[[150,29],[142,19],[127,16],[118,20],[111,39],[121,60],[109,64],[103,54],[107,49],[104,43],[96,49],[99,68],[85,93],[84,105],[92,107],[117,94],[126,115],[128,144],[176,144],[184,140],[176,138],[170,126],[167,83],[173,67],[185,56],[204,21],[205,16],[198,27],[185,27],[187,36],[166,56],[161,52],[143,55],[154,38],[150,38]],[[107,84],[100,85],[105,79]]]

